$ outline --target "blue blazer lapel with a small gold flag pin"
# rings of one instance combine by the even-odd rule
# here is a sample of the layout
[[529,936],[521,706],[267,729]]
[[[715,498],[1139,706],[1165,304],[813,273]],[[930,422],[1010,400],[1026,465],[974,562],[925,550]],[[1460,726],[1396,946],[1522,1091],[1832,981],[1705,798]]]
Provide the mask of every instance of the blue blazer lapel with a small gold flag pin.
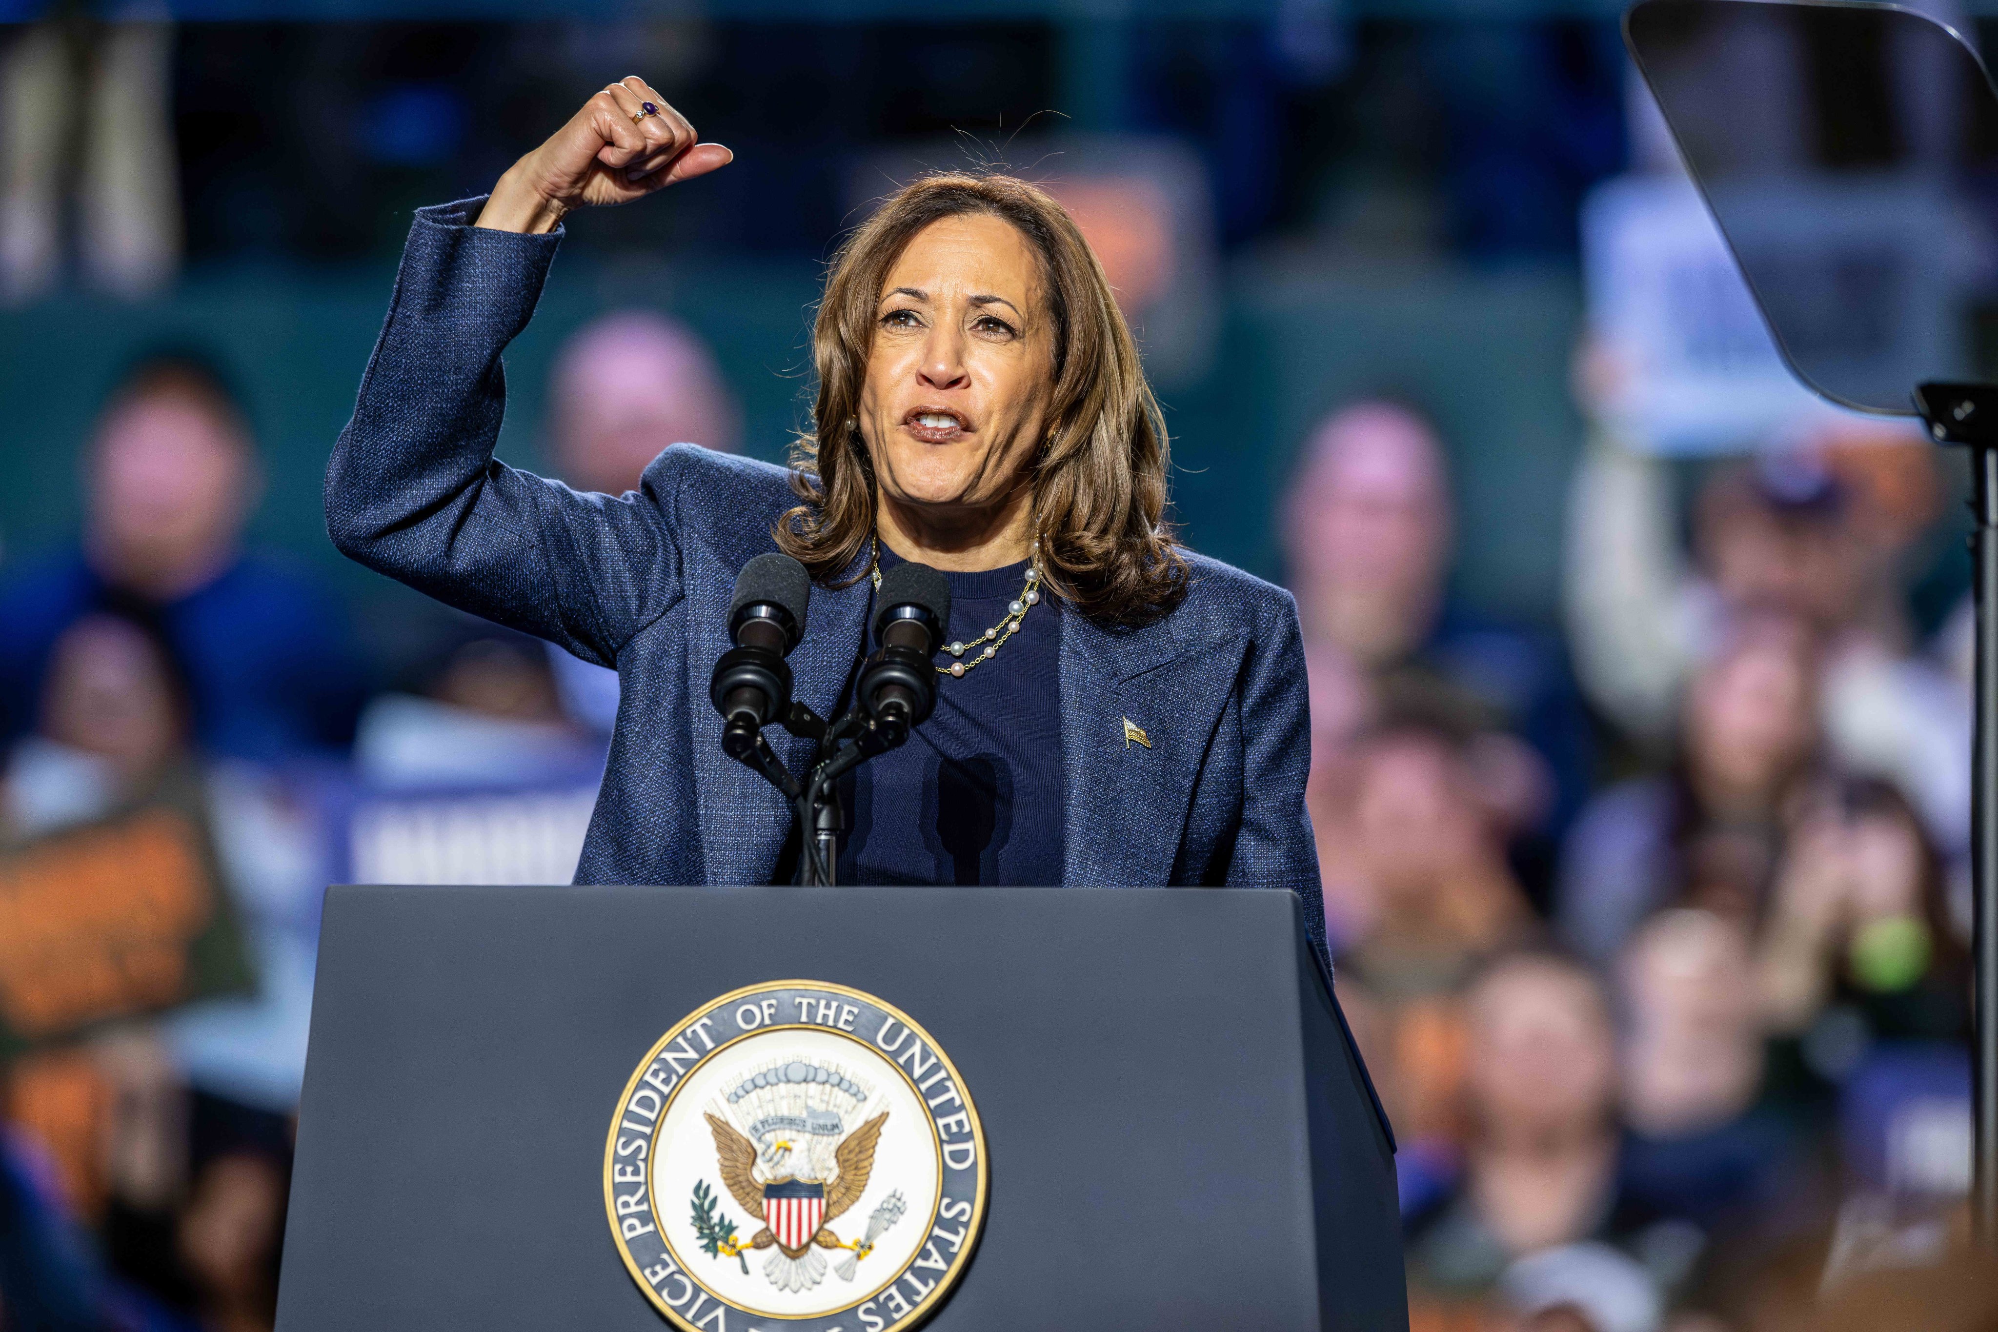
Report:
[[1165,885],[1245,641],[1181,643],[1171,617],[1111,631],[1057,605],[1063,879],[1071,887]]

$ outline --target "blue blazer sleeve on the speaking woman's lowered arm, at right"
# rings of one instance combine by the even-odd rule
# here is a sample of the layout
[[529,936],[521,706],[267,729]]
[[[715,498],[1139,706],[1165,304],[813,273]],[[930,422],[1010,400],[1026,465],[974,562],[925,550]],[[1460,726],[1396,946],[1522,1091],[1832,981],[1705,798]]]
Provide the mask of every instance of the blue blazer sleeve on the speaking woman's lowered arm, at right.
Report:
[[1303,899],[1305,935],[1321,959],[1325,885],[1305,809],[1311,777],[1311,691],[1297,601],[1287,591],[1259,617],[1241,677],[1243,815],[1229,855],[1229,887],[1291,889]]

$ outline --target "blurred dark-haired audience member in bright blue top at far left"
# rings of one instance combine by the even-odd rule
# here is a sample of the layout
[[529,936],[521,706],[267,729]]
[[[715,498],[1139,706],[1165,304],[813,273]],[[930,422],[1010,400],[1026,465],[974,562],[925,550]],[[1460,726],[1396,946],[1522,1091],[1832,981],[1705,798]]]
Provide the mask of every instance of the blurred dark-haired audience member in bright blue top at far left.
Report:
[[62,633],[140,601],[184,665],[204,751],[344,747],[362,693],[346,615],[308,573],[244,549],[256,489],[248,423],[212,369],[164,357],[128,375],[90,443],[82,543],[0,587],[0,741],[40,715]]

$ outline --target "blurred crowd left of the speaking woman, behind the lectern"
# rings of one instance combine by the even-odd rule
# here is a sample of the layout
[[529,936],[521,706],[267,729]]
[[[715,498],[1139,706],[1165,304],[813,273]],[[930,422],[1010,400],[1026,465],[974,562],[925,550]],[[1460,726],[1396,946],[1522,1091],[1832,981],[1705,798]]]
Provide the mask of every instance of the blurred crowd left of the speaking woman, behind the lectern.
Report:
[[[739,427],[653,312],[579,330],[549,403],[585,489]],[[464,617],[384,679],[342,597],[246,541],[256,429],[192,349],[132,363],[82,485],[76,539],[0,567],[0,875],[192,807],[256,983],[40,1040],[0,1002],[0,1328],[268,1330],[326,883],[567,881],[617,677]]]

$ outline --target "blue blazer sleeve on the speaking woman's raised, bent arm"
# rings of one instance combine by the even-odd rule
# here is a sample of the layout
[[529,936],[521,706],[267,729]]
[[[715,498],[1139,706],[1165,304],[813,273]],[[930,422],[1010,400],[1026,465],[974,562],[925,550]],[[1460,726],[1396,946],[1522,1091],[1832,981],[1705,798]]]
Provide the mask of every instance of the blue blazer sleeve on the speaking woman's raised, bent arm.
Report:
[[416,214],[354,417],[326,469],[326,531],[352,559],[615,665],[679,597],[673,469],[577,493],[494,461],[500,353],[561,244],[472,226],[484,200]]

